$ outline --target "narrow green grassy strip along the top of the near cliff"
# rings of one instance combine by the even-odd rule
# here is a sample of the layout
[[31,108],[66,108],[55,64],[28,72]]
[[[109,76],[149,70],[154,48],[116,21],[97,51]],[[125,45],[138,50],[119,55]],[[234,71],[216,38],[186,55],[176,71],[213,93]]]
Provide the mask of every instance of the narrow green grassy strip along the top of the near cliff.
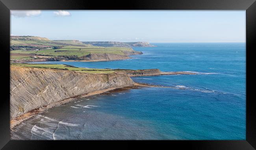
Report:
[[59,69],[59,70],[70,70],[76,72],[84,73],[113,73],[113,69],[92,69],[92,68],[80,68],[70,65],[61,65],[61,64],[35,64],[35,63],[11,63],[13,66],[22,66],[22,67],[34,67],[34,68],[45,68],[45,69]]

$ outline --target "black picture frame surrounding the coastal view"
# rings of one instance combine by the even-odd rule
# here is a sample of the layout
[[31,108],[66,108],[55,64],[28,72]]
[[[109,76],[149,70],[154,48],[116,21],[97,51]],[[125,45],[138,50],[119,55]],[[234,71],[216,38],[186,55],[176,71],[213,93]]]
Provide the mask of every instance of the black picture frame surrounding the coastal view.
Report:
[[[246,140],[244,141],[161,141],[169,148],[178,146],[202,150],[253,150],[256,148],[256,107],[254,88],[254,55],[256,51],[256,2],[255,0],[0,0],[0,45],[2,95],[0,103],[0,148],[9,149],[49,149],[71,145],[95,145],[97,141],[14,141],[9,130],[9,42],[10,10],[246,10]],[[113,142],[113,141],[112,141]],[[108,142],[112,147],[114,143]],[[123,141],[122,141],[123,142]],[[133,148],[124,141],[122,146]],[[139,143],[140,141],[135,141]],[[144,141],[145,142],[145,141]],[[158,141],[159,142],[159,141]],[[104,142],[104,145],[107,142]],[[155,145],[155,141],[147,143]],[[145,145],[145,144],[144,144]],[[170,147],[171,146],[171,147]]]

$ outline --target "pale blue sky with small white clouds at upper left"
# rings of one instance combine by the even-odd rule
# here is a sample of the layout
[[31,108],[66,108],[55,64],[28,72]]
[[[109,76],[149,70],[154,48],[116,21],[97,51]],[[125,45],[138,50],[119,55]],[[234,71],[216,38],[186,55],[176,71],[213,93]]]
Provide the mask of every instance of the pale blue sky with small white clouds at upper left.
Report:
[[246,11],[11,11],[11,33],[50,40],[245,42]]

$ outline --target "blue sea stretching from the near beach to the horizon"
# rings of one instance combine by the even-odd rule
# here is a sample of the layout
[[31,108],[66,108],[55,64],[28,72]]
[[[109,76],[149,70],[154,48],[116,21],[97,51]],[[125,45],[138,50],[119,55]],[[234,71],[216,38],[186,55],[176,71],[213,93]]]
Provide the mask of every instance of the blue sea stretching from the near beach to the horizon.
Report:
[[24,121],[11,132],[13,139],[245,140],[245,43],[152,44],[157,47],[134,47],[143,54],[128,60],[40,63],[198,74],[133,77],[173,88],[81,98]]

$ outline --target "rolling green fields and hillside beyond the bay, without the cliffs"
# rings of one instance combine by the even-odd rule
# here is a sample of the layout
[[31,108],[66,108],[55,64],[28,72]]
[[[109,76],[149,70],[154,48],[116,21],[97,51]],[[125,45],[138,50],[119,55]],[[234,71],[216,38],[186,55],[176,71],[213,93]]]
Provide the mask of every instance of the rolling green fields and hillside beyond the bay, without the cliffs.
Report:
[[98,47],[78,40],[49,40],[36,36],[11,36],[11,60],[33,60],[49,57],[81,57],[88,54],[120,54],[134,50],[129,47]]

